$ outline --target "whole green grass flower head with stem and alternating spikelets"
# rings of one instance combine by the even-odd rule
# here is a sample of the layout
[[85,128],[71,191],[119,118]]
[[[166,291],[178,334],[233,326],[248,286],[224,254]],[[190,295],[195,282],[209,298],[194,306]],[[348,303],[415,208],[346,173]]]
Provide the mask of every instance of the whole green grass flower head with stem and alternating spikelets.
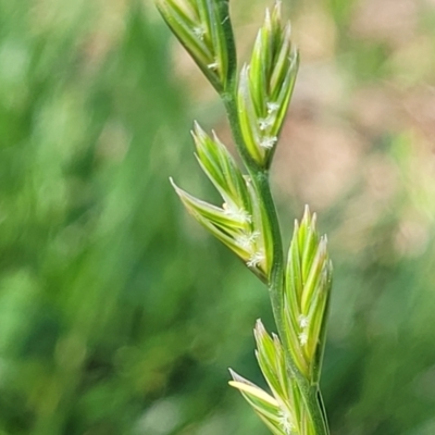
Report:
[[299,55],[283,24],[281,4],[266,10],[252,54],[238,72],[227,0],[158,0],[159,11],[220,95],[246,173],[213,132],[195,123],[202,171],[222,197],[211,204],[172,179],[184,206],[269,288],[276,334],[261,320],[254,337],[265,391],[233,370],[237,388],[276,435],[326,435],[319,387],[325,343],[332,264],[326,237],[307,207],[288,249],[284,243],[270,170],[298,71]]

